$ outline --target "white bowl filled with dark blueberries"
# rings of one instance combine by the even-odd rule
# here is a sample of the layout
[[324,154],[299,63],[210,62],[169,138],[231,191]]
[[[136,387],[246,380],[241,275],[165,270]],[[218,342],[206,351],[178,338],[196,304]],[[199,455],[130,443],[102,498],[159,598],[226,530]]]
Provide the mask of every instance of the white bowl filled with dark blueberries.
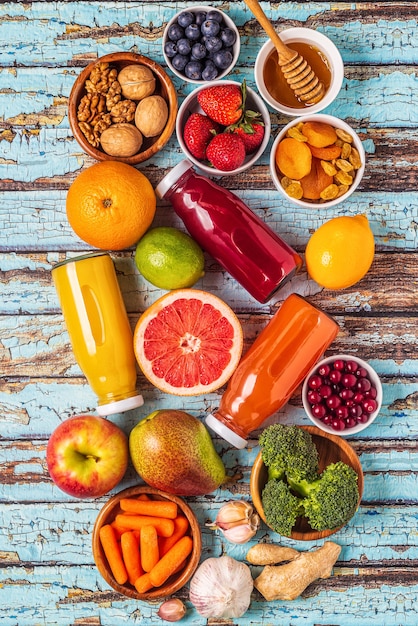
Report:
[[234,67],[240,37],[233,20],[219,9],[195,6],[168,22],[163,54],[170,70],[189,83],[219,80]]

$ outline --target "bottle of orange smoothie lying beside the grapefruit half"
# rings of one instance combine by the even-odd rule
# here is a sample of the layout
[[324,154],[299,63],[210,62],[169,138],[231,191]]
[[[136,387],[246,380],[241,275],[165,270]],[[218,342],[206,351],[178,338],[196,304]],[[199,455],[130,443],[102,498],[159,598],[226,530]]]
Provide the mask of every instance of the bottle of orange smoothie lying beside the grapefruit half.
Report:
[[244,448],[248,435],[290,399],[338,330],[326,313],[290,295],[241,359],[207,426]]

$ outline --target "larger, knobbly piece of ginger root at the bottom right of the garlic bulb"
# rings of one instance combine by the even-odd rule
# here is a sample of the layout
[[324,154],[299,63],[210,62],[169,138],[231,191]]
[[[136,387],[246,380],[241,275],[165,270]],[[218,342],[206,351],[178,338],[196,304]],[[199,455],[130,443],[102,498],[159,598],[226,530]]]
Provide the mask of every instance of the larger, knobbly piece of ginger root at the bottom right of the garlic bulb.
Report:
[[313,552],[300,552],[284,565],[266,565],[254,586],[266,600],[296,600],[318,578],[329,578],[341,546],[327,541]]

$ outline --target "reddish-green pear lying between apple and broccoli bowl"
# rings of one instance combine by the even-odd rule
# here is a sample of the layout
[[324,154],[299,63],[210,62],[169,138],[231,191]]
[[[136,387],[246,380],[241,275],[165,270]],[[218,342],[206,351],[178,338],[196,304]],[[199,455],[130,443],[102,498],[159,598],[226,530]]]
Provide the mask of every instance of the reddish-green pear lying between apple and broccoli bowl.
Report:
[[225,466],[205,425],[184,411],[154,411],[129,435],[132,463],[151,487],[182,496],[215,491]]

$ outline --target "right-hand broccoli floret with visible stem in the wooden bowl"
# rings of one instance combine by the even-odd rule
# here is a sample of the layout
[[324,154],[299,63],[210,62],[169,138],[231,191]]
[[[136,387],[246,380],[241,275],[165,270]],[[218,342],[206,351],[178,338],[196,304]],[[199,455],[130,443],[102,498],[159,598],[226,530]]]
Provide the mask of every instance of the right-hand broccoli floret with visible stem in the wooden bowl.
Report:
[[342,461],[331,463],[313,481],[289,480],[290,487],[302,496],[309,525],[315,530],[332,530],[344,526],[357,510],[358,476]]

